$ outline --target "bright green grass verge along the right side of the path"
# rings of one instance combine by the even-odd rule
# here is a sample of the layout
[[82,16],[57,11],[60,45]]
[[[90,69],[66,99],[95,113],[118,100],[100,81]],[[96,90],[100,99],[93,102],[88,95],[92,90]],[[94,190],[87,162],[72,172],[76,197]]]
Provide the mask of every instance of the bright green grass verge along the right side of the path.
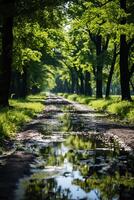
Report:
[[[108,112],[114,119],[123,120],[126,123],[134,123],[134,102],[121,101],[119,96],[111,96],[109,99],[96,99],[78,94],[62,94],[63,97],[93,107],[97,111]],[[134,97],[132,97],[134,99]]]

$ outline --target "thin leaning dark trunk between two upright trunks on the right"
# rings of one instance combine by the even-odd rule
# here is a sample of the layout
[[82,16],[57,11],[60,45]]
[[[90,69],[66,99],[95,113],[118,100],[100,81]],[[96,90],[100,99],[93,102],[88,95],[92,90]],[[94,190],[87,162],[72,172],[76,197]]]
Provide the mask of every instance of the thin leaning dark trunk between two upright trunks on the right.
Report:
[[108,81],[107,81],[107,87],[106,87],[106,98],[109,97],[110,94],[110,85],[111,85],[111,81],[112,81],[112,76],[113,76],[113,72],[114,72],[114,66],[116,63],[116,44],[114,45],[114,54],[113,54],[113,60],[111,63],[111,68],[110,68],[110,72],[109,72],[109,76],[108,76]]

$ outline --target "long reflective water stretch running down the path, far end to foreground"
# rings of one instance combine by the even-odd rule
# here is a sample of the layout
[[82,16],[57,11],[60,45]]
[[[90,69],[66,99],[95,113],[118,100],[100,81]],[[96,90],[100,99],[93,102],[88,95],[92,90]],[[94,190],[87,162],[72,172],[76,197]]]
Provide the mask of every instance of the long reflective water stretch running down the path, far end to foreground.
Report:
[[36,156],[31,175],[17,184],[15,200],[133,199],[133,154],[96,130],[93,112],[77,112],[63,99],[56,102],[47,99],[37,126],[42,141],[23,144]]

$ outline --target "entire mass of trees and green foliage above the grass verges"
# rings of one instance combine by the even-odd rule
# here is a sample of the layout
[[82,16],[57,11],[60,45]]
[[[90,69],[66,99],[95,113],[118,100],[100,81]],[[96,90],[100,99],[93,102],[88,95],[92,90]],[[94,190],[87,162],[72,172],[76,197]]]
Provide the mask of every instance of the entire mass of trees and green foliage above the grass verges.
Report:
[[132,0],[0,0],[0,105],[41,90],[131,100],[133,8]]

